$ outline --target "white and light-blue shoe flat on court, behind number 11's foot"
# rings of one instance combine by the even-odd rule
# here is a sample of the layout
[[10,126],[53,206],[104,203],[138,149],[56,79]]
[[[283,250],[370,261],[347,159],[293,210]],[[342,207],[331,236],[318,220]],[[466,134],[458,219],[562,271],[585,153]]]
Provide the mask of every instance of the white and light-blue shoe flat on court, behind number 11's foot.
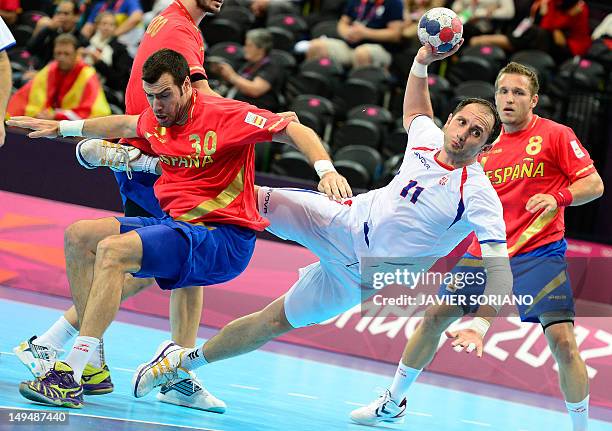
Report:
[[161,387],[157,394],[159,401],[213,413],[225,413],[225,403],[208,392],[193,372],[180,370],[178,377],[178,380]]

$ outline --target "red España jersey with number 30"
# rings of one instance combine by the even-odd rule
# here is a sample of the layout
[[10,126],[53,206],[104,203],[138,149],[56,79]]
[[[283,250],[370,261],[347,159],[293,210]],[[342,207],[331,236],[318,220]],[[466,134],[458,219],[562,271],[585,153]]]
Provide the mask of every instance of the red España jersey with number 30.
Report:
[[289,120],[244,102],[193,91],[184,125],[160,127],[151,108],[138,119],[145,151],[159,156],[155,196],[177,221],[216,222],[264,230],[255,205],[256,142],[270,141]]

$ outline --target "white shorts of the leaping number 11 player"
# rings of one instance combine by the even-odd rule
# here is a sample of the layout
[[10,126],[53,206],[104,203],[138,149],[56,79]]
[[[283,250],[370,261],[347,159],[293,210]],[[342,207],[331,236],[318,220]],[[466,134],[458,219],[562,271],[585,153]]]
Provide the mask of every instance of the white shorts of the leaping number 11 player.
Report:
[[361,302],[359,263],[350,231],[350,207],[302,189],[261,187],[259,212],[268,231],[295,241],[320,261],[299,270],[285,294],[285,315],[294,328],[330,319]]

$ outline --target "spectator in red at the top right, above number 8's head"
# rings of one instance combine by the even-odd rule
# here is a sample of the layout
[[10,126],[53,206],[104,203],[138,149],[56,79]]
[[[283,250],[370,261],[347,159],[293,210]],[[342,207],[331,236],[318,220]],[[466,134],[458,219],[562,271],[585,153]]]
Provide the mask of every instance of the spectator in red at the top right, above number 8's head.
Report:
[[[583,0],[536,0],[531,17],[523,20],[510,35],[476,36],[471,45],[497,45],[507,51],[539,49],[561,63],[584,55],[591,46],[589,7]],[[533,25],[536,15],[539,25]]]

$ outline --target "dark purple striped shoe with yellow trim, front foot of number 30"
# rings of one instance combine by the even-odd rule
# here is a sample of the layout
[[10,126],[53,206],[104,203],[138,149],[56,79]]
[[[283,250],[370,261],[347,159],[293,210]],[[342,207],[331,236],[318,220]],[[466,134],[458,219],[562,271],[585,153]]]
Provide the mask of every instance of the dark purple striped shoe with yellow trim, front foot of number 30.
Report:
[[21,382],[19,393],[38,403],[80,409],[83,407],[83,388],[74,381],[72,368],[57,361],[41,378]]

